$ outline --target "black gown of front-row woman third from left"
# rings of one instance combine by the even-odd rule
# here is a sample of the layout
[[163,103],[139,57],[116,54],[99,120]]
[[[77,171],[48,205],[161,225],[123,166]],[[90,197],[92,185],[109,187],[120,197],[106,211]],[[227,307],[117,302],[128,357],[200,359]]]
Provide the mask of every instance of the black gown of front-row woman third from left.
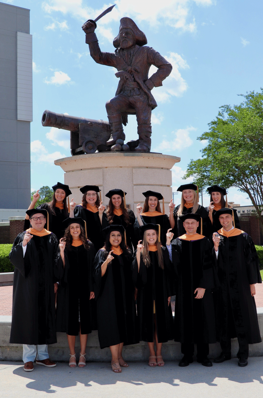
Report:
[[95,256],[93,272],[100,347],[139,343],[131,261],[124,254],[112,254],[114,260],[101,277],[104,254],[104,250],[99,250]]

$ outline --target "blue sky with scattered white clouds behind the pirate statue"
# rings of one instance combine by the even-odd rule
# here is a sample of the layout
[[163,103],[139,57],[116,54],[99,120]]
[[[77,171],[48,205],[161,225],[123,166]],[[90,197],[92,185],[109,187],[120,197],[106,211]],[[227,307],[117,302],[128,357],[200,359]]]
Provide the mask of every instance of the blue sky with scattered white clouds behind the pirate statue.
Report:
[[[70,155],[70,132],[42,127],[45,109],[107,120],[105,103],[114,97],[118,79],[113,68],[89,55],[81,25],[114,3],[101,0],[12,0],[29,8],[33,35],[33,122],[31,123],[31,187],[64,181],[54,160]],[[262,0],[117,0],[97,23],[102,51],[114,51],[120,18],[132,18],[148,45],[168,59],[173,70],[163,87],[152,93],[152,151],[180,156],[173,170],[173,191],[184,183],[190,159],[200,154],[196,140],[224,104],[242,101],[237,94],[262,86]],[[130,4],[130,5],[129,5]],[[154,67],[150,69],[150,74]],[[126,140],[137,138],[129,117]],[[176,202],[179,197],[176,197]],[[250,205],[247,195],[229,189],[228,199]],[[204,205],[209,196],[203,196]]]

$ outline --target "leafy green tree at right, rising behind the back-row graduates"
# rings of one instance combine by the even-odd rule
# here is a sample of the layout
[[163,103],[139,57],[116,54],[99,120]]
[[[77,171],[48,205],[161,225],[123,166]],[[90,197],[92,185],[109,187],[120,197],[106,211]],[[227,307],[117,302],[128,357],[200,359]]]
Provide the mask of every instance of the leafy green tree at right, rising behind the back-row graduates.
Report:
[[197,138],[207,145],[201,159],[191,159],[184,179],[192,176],[200,187],[217,184],[246,192],[263,233],[263,89],[241,96],[240,105],[221,106],[209,131]]

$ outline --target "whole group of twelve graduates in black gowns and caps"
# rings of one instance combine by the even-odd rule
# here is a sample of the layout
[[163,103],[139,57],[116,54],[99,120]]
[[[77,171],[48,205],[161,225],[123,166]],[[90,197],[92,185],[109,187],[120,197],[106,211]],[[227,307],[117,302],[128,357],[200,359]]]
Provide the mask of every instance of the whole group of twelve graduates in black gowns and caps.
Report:
[[[220,342],[220,363],[231,358],[237,337],[239,366],[248,364],[248,344],[261,342],[255,306],[259,262],[250,236],[240,230],[226,190],[208,188],[206,209],[198,187],[181,185],[181,204],[164,213],[161,193],[146,191],[137,217],[126,208],[126,192],[112,189],[107,210],[100,189],[80,188],[81,204],[68,185],[57,183],[50,203],[27,210],[25,231],[10,252],[15,267],[10,343],[23,344],[25,371],[54,367],[47,345],[66,332],[69,366],[85,366],[88,334],[98,330],[101,349],[110,347],[112,370],[128,367],[123,345],[146,341],[149,366],[164,366],[162,343],[181,343],[179,366],[212,366],[209,343]],[[162,200],[162,211],[160,201]],[[170,300],[176,296],[174,320]],[[55,304],[56,303],[56,304]],[[137,304],[137,306],[136,306]],[[156,345],[156,351],[155,351]]]

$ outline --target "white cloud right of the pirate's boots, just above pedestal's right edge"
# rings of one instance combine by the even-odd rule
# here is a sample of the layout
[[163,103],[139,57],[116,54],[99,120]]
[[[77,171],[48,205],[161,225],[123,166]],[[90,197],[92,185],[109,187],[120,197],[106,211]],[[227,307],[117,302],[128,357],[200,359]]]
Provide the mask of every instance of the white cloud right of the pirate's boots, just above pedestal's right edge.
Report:
[[170,134],[170,139],[164,139],[158,145],[158,148],[153,149],[153,152],[173,152],[175,150],[182,150],[191,146],[193,141],[189,137],[191,131],[195,131],[195,127],[187,127],[186,129],[178,129],[176,131],[172,131]]

